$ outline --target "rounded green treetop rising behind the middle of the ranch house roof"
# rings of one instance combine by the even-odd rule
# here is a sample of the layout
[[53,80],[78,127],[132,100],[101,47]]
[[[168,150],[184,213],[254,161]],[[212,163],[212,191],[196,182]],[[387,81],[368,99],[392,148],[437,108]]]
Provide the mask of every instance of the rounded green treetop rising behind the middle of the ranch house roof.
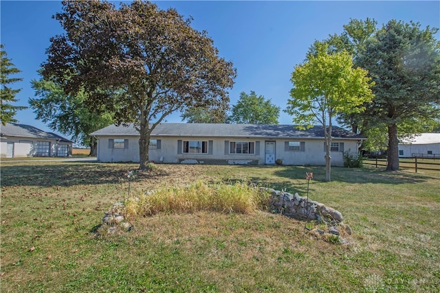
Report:
[[278,124],[280,107],[265,99],[263,95],[256,95],[251,91],[240,94],[240,99],[232,106],[232,113],[228,120],[237,124]]

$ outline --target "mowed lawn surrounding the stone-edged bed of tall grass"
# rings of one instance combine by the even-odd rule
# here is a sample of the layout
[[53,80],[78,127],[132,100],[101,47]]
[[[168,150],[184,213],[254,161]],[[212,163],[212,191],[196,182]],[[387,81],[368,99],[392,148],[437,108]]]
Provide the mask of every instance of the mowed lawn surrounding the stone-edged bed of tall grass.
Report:
[[[157,213],[107,235],[104,211],[137,164],[1,162],[1,292],[437,292],[439,174],[324,167],[157,165],[131,193],[253,181],[338,209],[341,246],[304,222],[252,213]],[[34,248],[33,251],[30,248]]]

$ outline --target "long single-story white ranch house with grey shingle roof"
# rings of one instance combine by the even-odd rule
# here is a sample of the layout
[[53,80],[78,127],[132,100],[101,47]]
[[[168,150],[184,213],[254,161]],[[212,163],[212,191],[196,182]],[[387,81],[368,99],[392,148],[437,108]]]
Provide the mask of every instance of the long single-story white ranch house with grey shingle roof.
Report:
[[[107,126],[98,139],[98,161],[139,162],[140,134],[133,125]],[[343,152],[357,154],[363,137],[333,126],[331,164],[344,165]],[[151,134],[150,161],[230,165],[325,165],[322,126],[162,123]]]

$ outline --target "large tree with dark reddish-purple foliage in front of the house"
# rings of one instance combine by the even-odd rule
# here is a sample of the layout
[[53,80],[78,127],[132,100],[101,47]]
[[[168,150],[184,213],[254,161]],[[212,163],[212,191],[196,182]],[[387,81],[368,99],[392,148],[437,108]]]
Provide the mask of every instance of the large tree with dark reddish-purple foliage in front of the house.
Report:
[[120,8],[63,1],[55,17],[66,33],[51,38],[43,76],[67,93],[96,93],[85,103],[114,112],[116,124],[134,122],[140,169],[148,169],[151,132],[167,115],[229,102],[232,62],[220,58],[207,33],[192,29],[174,9],[144,1]]

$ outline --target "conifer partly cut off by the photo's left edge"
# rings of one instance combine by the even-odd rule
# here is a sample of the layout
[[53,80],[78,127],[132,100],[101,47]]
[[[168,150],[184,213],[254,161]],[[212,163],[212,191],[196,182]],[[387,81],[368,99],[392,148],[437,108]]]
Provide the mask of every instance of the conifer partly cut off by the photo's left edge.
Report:
[[17,110],[23,110],[25,106],[14,106],[12,103],[17,102],[18,99],[15,95],[21,91],[21,89],[12,89],[10,84],[19,82],[23,78],[11,78],[10,75],[20,73],[21,71],[15,67],[12,61],[8,58],[8,54],[3,50],[3,45],[0,45],[1,55],[1,87],[0,87],[0,120],[1,124],[6,125],[9,122],[17,122],[14,116],[17,114]]

